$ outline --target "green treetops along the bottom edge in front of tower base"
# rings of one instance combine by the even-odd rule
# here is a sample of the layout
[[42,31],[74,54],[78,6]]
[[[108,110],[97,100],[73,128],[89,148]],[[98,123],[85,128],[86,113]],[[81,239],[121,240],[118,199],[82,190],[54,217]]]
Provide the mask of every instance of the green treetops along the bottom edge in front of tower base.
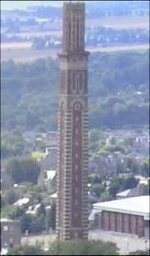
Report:
[[[19,248],[10,248],[9,255],[121,255],[113,242],[103,242],[101,240],[77,240],[49,242],[47,250],[42,248],[40,243],[36,245],[22,245]],[[124,255],[149,255],[149,250],[132,251]]]

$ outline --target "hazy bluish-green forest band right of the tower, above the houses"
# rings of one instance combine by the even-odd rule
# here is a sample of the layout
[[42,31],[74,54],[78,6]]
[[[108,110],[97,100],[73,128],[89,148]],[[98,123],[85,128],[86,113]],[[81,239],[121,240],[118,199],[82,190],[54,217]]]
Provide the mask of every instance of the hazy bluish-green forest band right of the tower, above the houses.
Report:
[[91,56],[92,127],[148,123],[148,52]]

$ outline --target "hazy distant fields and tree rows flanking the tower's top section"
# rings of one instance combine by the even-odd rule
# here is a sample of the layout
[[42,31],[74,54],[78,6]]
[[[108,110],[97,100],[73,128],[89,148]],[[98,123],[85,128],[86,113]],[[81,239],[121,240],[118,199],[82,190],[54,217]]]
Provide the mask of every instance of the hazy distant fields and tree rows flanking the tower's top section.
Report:
[[[86,47],[98,50],[117,50],[117,47],[148,48],[147,2],[113,2],[106,5],[87,4]],[[123,5],[123,8],[122,8]],[[20,44],[19,44],[20,43]],[[17,47],[20,53],[16,53]],[[38,50],[37,56],[52,54],[62,47],[61,8],[35,6],[26,10],[4,10],[1,13],[1,59],[16,58],[23,50]],[[125,48],[124,48],[125,47]],[[118,48],[119,49],[119,48]],[[49,52],[41,50],[49,50]],[[34,51],[31,51],[34,55]],[[31,54],[28,51],[28,56]]]

